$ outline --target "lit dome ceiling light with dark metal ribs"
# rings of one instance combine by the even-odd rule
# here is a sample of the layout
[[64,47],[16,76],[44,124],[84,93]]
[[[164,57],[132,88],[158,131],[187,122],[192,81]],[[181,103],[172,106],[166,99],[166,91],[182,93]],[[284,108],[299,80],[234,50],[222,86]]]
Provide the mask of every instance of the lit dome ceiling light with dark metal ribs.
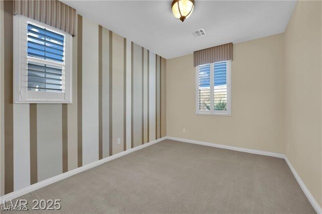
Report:
[[194,5],[194,0],[174,0],[171,5],[172,13],[183,22],[191,16]]

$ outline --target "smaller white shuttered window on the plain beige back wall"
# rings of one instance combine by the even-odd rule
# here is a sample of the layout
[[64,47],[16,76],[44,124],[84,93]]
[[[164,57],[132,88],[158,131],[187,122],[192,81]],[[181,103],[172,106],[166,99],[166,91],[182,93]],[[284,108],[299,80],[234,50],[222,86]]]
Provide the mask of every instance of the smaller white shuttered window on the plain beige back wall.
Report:
[[231,60],[196,66],[196,114],[231,116]]

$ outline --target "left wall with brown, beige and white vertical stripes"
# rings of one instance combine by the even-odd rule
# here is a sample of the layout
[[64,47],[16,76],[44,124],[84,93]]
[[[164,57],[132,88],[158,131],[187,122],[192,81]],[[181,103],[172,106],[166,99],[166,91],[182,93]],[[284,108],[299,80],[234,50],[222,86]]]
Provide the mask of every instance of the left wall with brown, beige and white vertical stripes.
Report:
[[13,6],[0,4],[1,195],[166,135],[166,60],[82,16],[73,102],[14,104]]

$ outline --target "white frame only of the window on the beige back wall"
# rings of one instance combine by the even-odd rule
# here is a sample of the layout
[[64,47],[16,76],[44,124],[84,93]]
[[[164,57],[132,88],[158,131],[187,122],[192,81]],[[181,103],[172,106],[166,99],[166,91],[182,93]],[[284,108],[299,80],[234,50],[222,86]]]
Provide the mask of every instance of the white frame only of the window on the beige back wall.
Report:
[[[211,110],[199,110],[199,65],[195,67],[195,103],[196,103],[196,115],[208,115],[208,116],[231,116],[231,60],[224,60],[220,62],[226,62],[227,66],[227,110],[219,111],[214,110],[214,64],[219,62],[207,63],[210,64],[210,106]],[[202,65],[200,65],[202,66]]]

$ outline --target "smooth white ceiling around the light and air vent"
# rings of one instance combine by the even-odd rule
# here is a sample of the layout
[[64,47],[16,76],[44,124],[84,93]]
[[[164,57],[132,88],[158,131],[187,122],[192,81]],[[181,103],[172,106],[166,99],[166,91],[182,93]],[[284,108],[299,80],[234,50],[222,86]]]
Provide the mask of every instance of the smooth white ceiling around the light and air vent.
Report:
[[[166,58],[285,31],[296,1],[195,1],[184,23],[172,1],[70,1],[77,13]],[[190,32],[204,28],[206,36]]]

